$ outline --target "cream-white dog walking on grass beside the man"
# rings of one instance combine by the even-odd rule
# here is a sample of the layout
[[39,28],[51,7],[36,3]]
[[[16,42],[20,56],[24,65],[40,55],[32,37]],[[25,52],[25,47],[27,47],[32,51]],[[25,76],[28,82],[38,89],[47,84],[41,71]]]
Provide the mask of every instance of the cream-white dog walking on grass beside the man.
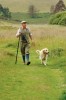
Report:
[[41,64],[46,65],[47,63],[47,57],[48,57],[48,49],[44,48],[42,50],[36,50],[36,52],[39,54],[39,59],[41,60]]

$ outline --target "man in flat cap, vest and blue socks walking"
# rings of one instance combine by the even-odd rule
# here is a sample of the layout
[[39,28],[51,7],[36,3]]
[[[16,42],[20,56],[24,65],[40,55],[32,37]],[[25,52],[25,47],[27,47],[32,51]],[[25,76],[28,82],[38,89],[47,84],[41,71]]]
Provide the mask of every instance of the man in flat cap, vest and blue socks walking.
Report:
[[22,59],[24,64],[29,65],[29,48],[30,48],[30,42],[29,38],[32,40],[32,34],[30,30],[27,28],[27,22],[22,21],[21,27],[18,29],[16,37],[20,38],[20,49],[22,54]]

